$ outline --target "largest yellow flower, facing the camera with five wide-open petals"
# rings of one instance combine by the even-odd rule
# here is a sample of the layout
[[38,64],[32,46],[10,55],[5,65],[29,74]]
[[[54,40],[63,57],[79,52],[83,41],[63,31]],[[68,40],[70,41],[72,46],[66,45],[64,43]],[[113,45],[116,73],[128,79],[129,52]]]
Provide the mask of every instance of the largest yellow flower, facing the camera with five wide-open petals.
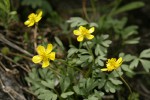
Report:
[[55,60],[55,52],[52,52],[53,45],[48,44],[45,49],[44,46],[37,47],[38,55],[33,56],[32,61],[34,63],[42,62],[42,68],[45,68],[50,65],[49,60]]

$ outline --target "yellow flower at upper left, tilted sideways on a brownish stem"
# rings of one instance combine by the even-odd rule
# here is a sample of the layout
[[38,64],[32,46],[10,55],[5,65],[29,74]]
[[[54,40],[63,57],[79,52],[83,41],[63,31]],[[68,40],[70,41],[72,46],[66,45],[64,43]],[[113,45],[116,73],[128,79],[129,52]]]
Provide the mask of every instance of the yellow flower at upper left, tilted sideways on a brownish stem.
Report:
[[35,14],[35,13],[31,13],[28,16],[28,20],[24,22],[25,25],[27,25],[28,27],[33,26],[35,23],[38,23],[41,18],[42,18],[42,11],[39,11],[39,13]]

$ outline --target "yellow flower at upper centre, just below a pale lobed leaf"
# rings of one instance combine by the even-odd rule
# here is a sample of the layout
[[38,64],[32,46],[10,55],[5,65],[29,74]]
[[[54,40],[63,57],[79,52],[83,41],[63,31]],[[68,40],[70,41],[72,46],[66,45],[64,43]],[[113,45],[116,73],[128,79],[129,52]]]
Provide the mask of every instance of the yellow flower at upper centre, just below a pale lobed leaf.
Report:
[[94,35],[91,35],[95,30],[94,27],[90,28],[89,30],[86,29],[83,26],[80,26],[78,30],[74,30],[73,33],[74,35],[77,35],[77,41],[82,42],[84,38],[87,38],[89,40],[94,38]]

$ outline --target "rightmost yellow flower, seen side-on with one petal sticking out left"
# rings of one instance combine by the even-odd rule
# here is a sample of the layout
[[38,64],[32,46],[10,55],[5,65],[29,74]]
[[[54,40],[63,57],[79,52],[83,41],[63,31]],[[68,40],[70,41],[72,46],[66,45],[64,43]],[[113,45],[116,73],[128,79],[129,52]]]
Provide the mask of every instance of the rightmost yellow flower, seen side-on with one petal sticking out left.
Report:
[[121,57],[118,60],[116,60],[116,58],[108,59],[107,64],[106,64],[107,68],[102,68],[101,71],[112,71],[114,69],[117,69],[118,67],[120,67],[122,62],[123,60]]

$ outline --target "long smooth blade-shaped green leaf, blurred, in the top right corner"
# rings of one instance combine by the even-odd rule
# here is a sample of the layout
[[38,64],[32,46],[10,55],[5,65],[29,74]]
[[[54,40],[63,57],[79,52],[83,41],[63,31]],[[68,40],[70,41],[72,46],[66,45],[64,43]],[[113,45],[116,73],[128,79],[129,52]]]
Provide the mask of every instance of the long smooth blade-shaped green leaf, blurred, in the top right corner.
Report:
[[130,11],[130,10],[133,10],[133,9],[137,9],[137,8],[140,8],[140,7],[143,7],[145,4],[143,2],[140,2],[140,1],[137,1],[137,2],[132,2],[132,3],[129,3],[127,5],[124,5],[120,8],[118,8],[114,13],[113,15],[117,15],[119,13],[122,13],[122,12],[125,12],[125,11]]

